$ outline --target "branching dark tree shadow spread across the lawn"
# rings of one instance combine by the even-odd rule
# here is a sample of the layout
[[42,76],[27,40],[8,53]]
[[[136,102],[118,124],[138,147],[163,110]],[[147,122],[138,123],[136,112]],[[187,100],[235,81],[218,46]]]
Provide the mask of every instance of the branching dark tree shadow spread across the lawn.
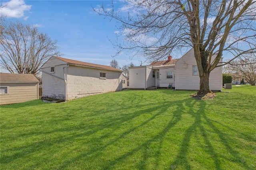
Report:
[[[162,90],[163,93],[166,94],[173,94],[175,91],[167,91]],[[193,93],[193,92],[192,92]],[[182,95],[188,95],[187,92],[182,93]],[[139,99],[142,96],[138,95],[136,98]],[[134,99],[134,98],[133,98]],[[150,99],[148,99],[150,100]],[[69,152],[73,152],[74,150],[67,150],[63,153],[63,157],[59,158],[62,159],[61,162],[58,162],[57,165],[55,163],[56,169],[68,169],[70,166],[75,164],[75,162],[79,161],[86,161],[90,160],[92,156],[96,155],[96,157],[100,156],[103,150],[105,150],[108,147],[111,147],[113,145],[117,145],[121,140],[124,140],[130,135],[131,133],[135,133],[138,131],[138,129],[141,129],[142,127],[145,127],[149,123],[152,123],[155,121],[159,116],[162,114],[167,114],[168,110],[172,108],[172,112],[170,113],[170,119],[166,123],[166,125],[162,125],[163,127],[159,131],[159,133],[152,135],[152,137],[148,137],[148,139],[141,141],[139,145],[134,146],[133,148],[129,149],[125,152],[120,152],[120,154],[112,157],[110,160],[98,162],[97,169],[113,169],[114,166],[120,164],[121,162],[126,161],[129,157],[132,155],[142,152],[142,156],[138,159],[138,162],[136,165],[134,165],[134,168],[137,169],[148,169],[147,162],[152,157],[152,153],[150,153],[149,146],[152,145],[155,141],[158,141],[156,152],[154,153],[154,165],[152,169],[161,169],[162,168],[162,158],[161,158],[161,152],[163,150],[163,143],[164,140],[166,140],[166,135],[168,133],[172,133],[172,130],[174,126],[176,126],[178,123],[180,123],[182,120],[182,117],[186,115],[190,115],[192,117],[191,119],[191,125],[188,125],[188,128],[184,132],[184,135],[182,136],[182,139],[179,144],[179,150],[176,154],[176,159],[174,161],[168,159],[168,168],[169,169],[175,169],[175,168],[182,168],[182,169],[192,169],[191,166],[191,160],[189,158],[189,149],[190,149],[190,142],[192,140],[193,135],[197,135],[195,133],[196,129],[199,129],[200,135],[202,135],[202,138],[204,140],[204,145],[207,145],[207,147],[202,146],[202,150],[204,152],[208,153],[208,155],[211,155],[211,159],[214,162],[214,169],[222,169],[220,165],[220,154],[216,152],[214,149],[215,147],[211,143],[211,139],[208,136],[208,129],[205,128],[205,123],[207,123],[208,127],[214,131],[214,133],[218,136],[220,139],[221,145],[224,145],[226,150],[232,154],[232,156],[236,159],[236,163],[239,163],[240,160],[242,160],[240,154],[234,150],[229,144],[228,141],[230,141],[229,135],[226,133],[223,133],[218,127],[216,127],[215,123],[207,117],[207,111],[206,111],[206,102],[204,101],[196,101],[191,98],[185,98],[180,100],[175,100],[173,102],[157,102],[154,106],[152,104],[138,104],[136,101],[130,101],[134,107],[141,106],[146,109],[136,109],[136,111],[128,114],[116,114],[109,115],[108,113],[111,111],[114,111],[116,108],[112,108],[111,110],[97,110],[94,112],[94,114],[90,114],[91,116],[101,116],[104,115],[104,119],[102,119],[100,122],[94,122],[94,124],[88,124],[88,123],[79,123],[74,124],[72,126],[68,127],[59,127],[59,128],[53,128],[49,131],[28,131],[26,133],[23,133],[19,137],[26,138],[27,137],[36,137],[36,136],[49,136],[48,139],[42,139],[41,141],[36,141],[34,143],[31,143],[30,145],[21,146],[21,147],[15,147],[13,150],[4,150],[4,152],[8,151],[15,151],[14,154],[10,154],[8,156],[1,156],[1,164],[11,164],[12,162],[15,162],[17,159],[22,159],[26,154],[39,154],[42,152],[42,150],[51,150],[51,152],[61,152],[61,147],[64,147],[65,145],[68,145],[72,147],[72,143],[75,143],[78,139],[82,138],[83,143],[82,145],[88,145],[88,149],[84,150],[83,152],[78,152],[77,155],[69,157]],[[75,103],[75,102],[74,102]],[[198,107],[194,107],[197,105]],[[122,108],[122,112],[126,111],[126,109],[129,109],[130,105],[126,106],[124,105]],[[18,108],[18,107],[17,107]],[[81,108],[84,109],[84,108]],[[95,108],[96,109],[96,108]],[[188,111],[184,111],[188,110]],[[117,110],[120,111],[120,110]],[[64,111],[65,112],[65,111]],[[138,119],[140,116],[148,114],[150,115],[148,118],[143,119],[140,123],[136,125],[132,125],[130,127],[127,127],[123,129],[123,131],[120,130],[121,126],[123,126],[125,123],[129,125],[129,123],[132,123],[134,119]],[[74,113],[68,112],[66,115],[72,115],[75,116]],[[61,122],[68,121],[70,117],[64,116],[59,119]],[[82,117],[81,117],[82,119]],[[54,122],[48,122],[54,123]],[[104,131],[105,129],[109,129],[107,131]],[[100,131],[104,131],[104,135],[100,134],[99,136],[97,133]],[[121,131],[120,134],[116,134],[115,136],[112,136],[113,133],[116,131]],[[54,134],[63,133],[61,136],[54,137]],[[112,138],[109,138],[112,137]],[[108,139],[108,140],[107,140]],[[103,142],[106,140],[105,142]],[[91,143],[92,141],[92,143]],[[172,150],[170,150],[172,152]],[[55,154],[55,153],[54,153]],[[55,158],[54,154],[50,154],[50,156],[46,160],[53,160]],[[39,154],[40,155],[40,154]],[[35,162],[40,166],[40,161]],[[96,161],[96,160],[95,160]],[[96,162],[97,163],[97,162]],[[95,164],[96,164],[95,163]],[[242,166],[245,169],[250,169],[246,163],[243,163]],[[30,167],[32,168],[32,167]],[[82,168],[82,167],[81,167]],[[85,168],[85,167],[84,167]],[[89,167],[90,169],[95,169],[92,167]],[[85,168],[86,169],[86,168]]]

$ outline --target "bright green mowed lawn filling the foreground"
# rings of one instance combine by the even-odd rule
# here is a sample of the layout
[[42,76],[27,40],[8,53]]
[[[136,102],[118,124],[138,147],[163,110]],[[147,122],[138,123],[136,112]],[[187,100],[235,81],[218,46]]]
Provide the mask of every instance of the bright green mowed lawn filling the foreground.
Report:
[[256,169],[256,87],[125,90],[1,106],[2,170]]

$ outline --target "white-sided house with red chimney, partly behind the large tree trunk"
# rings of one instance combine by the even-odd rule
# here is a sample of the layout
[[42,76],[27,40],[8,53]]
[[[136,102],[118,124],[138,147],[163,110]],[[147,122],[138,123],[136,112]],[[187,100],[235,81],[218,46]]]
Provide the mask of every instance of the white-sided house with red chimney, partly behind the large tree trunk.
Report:
[[[214,59],[215,56],[212,57],[212,61]],[[222,67],[212,70],[209,81],[210,90],[222,90]],[[172,83],[172,88],[176,90],[199,90],[200,78],[193,49],[180,59],[168,56],[167,61],[129,68],[130,89],[167,88],[169,83]]]

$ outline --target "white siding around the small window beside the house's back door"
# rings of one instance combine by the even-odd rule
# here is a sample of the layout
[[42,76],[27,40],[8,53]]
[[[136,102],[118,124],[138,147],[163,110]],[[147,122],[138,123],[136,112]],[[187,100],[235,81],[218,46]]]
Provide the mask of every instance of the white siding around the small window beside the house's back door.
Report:
[[[172,78],[167,78],[167,72],[172,72]],[[159,69],[159,86],[160,87],[168,87],[169,83],[172,83],[172,86],[174,87],[174,77],[175,77],[175,68],[164,68]]]

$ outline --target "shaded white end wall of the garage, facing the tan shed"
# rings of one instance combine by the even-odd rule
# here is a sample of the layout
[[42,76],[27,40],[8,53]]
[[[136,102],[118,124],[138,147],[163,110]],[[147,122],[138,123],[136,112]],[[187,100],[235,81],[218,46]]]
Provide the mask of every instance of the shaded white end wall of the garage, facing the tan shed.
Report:
[[[66,85],[63,72],[64,66],[66,66],[66,64],[55,66],[54,73],[50,73],[50,67],[42,69],[42,96],[65,100]],[[54,76],[62,78],[63,80]]]

